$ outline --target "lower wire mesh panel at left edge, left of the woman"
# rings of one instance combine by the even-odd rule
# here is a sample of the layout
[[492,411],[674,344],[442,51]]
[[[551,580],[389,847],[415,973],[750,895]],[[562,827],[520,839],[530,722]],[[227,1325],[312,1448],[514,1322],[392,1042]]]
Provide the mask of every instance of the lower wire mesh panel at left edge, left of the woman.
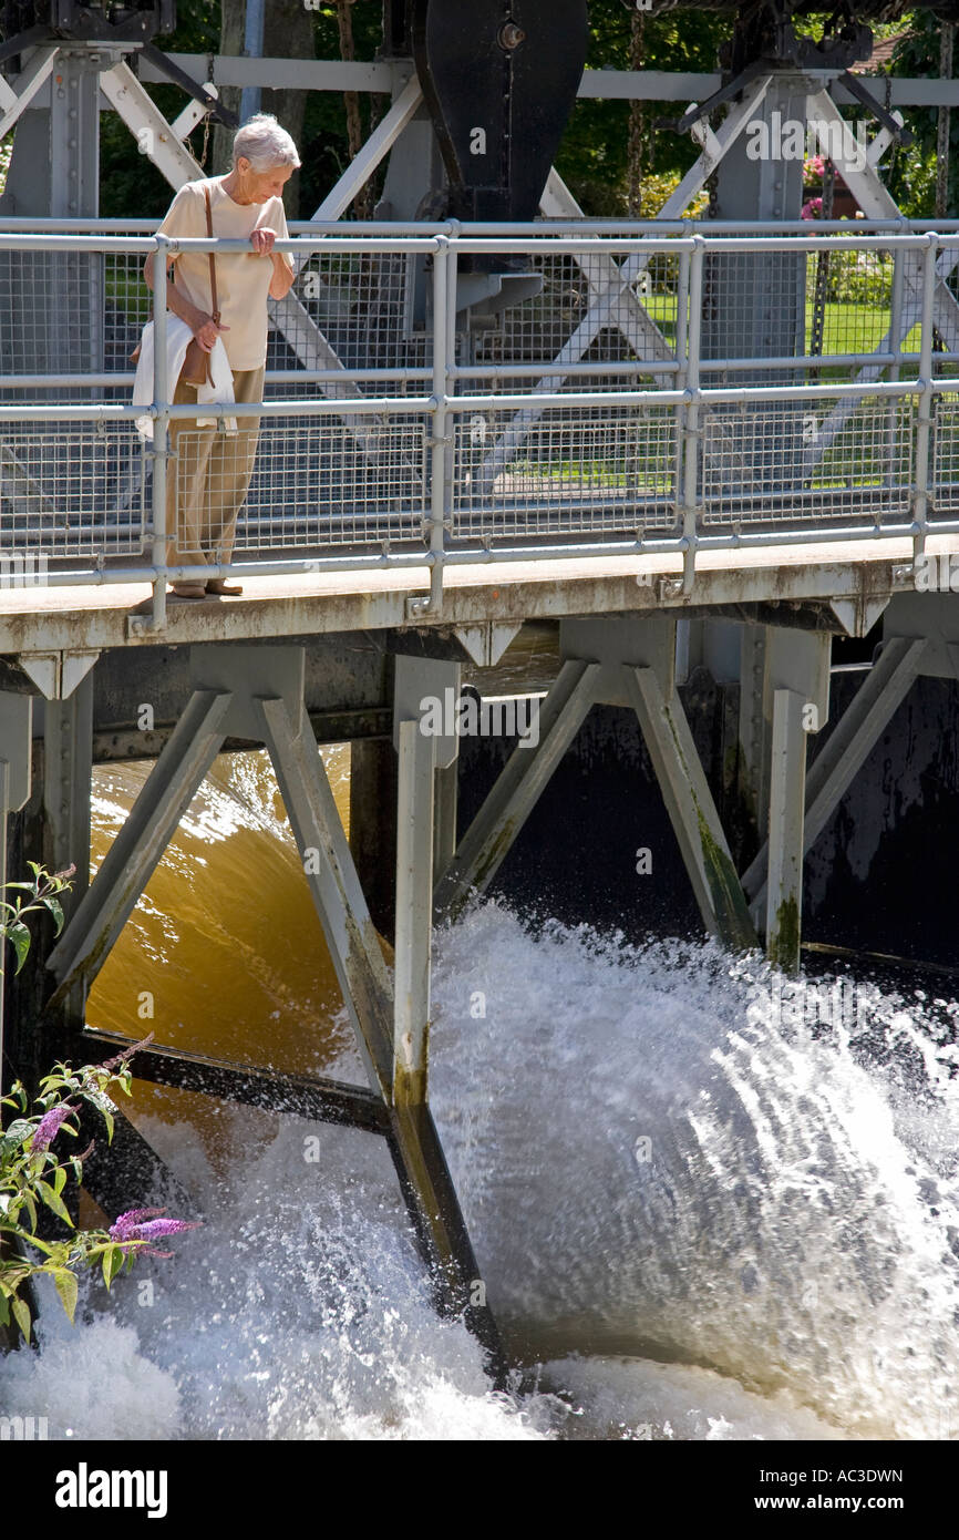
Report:
[[148,464],[132,424],[0,424],[0,548],[139,554]]

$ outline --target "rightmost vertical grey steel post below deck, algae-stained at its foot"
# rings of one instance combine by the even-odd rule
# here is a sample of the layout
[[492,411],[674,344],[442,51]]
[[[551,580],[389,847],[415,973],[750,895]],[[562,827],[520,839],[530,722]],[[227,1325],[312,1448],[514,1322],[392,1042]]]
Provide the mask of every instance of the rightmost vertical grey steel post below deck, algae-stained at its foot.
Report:
[[796,690],[773,693],[767,956],[787,973],[799,972],[802,935],[805,705],[805,696]]

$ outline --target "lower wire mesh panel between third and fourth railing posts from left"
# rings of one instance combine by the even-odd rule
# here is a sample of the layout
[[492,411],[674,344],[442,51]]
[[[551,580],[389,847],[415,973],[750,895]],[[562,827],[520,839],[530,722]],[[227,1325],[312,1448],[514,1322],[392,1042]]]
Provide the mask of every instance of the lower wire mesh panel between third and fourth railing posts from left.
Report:
[[908,397],[707,407],[703,522],[902,517],[911,497],[913,424]]

